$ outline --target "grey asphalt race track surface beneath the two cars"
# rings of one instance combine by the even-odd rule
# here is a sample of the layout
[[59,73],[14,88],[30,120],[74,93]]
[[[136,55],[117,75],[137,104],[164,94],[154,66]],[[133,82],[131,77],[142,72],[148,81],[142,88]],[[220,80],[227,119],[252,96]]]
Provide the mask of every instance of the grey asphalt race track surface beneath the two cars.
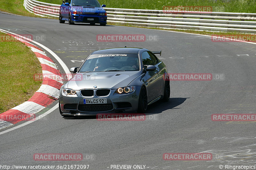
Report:
[[[93,116],[70,119],[55,109],[42,119],[1,135],[1,165],[76,164],[90,165],[93,170],[111,169],[111,165],[172,170],[256,165],[256,122],[211,120],[212,114],[256,113],[255,44],[212,42],[211,37],[202,35],[124,26],[68,25],[53,19],[6,14],[0,14],[0,18],[1,29],[32,34],[68,68],[80,66],[79,61],[94,50],[127,46],[162,50],[160,59],[170,73],[225,75],[224,80],[171,81],[170,101],[149,106],[145,121],[97,121]],[[97,34],[145,34],[147,41],[97,42]],[[38,36],[43,39],[36,40]],[[154,41],[149,40],[152,37]],[[64,73],[58,61],[47,54]],[[213,158],[163,160],[164,153],[198,152],[210,152]],[[35,161],[35,153],[82,153],[84,159]]]

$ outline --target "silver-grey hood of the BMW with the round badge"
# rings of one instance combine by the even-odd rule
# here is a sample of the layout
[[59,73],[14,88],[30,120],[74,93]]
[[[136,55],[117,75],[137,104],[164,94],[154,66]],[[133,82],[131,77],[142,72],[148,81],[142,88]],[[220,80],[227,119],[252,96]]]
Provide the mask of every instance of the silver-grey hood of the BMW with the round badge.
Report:
[[99,88],[117,89],[129,85],[141,75],[141,71],[88,72],[76,73],[68,81],[68,88],[74,90]]

